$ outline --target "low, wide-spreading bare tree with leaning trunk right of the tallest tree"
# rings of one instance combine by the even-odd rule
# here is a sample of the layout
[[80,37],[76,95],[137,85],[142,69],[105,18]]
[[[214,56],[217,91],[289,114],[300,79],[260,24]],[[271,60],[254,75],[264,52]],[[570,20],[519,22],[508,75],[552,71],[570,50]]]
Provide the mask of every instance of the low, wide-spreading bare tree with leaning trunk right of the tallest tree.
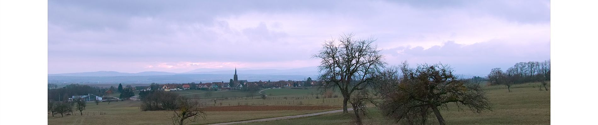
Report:
[[[398,70],[402,71],[402,76]],[[476,113],[492,111],[486,91],[480,84],[457,78],[448,65],[422,64],[411,69],[404,62],[401,69],[388,69],[379,79],[383,100],[379,104],[380,110],[397,122],[426,124],[427,117],[434,113],[438,123],[444,125],[440,108],[449,108],[449,102],[454,102],[459,110],[463,110],[459,105],[465,105]]]

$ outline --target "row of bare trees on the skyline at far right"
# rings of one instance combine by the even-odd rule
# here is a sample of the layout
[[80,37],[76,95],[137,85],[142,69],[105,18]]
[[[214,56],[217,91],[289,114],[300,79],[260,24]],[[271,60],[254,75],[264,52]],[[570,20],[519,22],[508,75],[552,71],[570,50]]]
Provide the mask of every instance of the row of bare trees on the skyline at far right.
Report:
[[494,68],[487,78],[491,85],[506,85],[509,92],[513,84],[550,81],[550,60],[515,63],[506,71]]

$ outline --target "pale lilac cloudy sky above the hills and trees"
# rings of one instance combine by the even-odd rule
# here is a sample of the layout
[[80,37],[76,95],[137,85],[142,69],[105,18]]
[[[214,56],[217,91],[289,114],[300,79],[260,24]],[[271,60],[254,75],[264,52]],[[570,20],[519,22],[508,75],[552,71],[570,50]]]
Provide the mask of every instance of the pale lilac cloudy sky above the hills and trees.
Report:
[[48,1],[48,73],[318,66],[346,33],[487,74],[550,59],[550,1]]

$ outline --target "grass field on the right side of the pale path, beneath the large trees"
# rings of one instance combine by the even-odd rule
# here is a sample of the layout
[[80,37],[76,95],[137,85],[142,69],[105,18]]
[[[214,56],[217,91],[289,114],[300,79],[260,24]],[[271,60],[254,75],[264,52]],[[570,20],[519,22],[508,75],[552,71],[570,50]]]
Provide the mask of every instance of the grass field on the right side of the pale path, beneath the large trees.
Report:
[[[472,113],[456,110],[454,104],[449,110],[441,111],[447,124],[550,124],[550,91],[539,91],[539,83],[511,86],[507,92],[504,85],[486,86],[493,111]],[[544,88],[542,88],[544,89]],[[550,85],[548,85],[550,90]],[[376,108],[370,108],[372,118],[365,124],[395,124],[380,114]],[[352,114],[351,114],[352,115]],[[245,124],[351,124],[351,115],[333,113],[322,116],[295,118],[290,120],[262,121]],[[435,117],[430,117],[432,124],[438,124]]]

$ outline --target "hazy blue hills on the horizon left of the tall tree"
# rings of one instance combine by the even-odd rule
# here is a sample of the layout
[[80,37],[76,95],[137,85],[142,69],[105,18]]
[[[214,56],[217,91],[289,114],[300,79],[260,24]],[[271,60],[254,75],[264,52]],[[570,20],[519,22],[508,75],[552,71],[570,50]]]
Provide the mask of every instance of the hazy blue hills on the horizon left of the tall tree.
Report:
[[[52,83],[188,83],[188,82],[228,82],[233,78],[234,70],[196,69],[205,72],[139,72],[123,73],[114,71],[80,72],[48,74],[48,82]],[[207,71],[213,70],[213,71]],[[248,81],[301,81],[308,77],[315,78],[316,66],[296,69],[254,69],[237,70],[239,79]]]

